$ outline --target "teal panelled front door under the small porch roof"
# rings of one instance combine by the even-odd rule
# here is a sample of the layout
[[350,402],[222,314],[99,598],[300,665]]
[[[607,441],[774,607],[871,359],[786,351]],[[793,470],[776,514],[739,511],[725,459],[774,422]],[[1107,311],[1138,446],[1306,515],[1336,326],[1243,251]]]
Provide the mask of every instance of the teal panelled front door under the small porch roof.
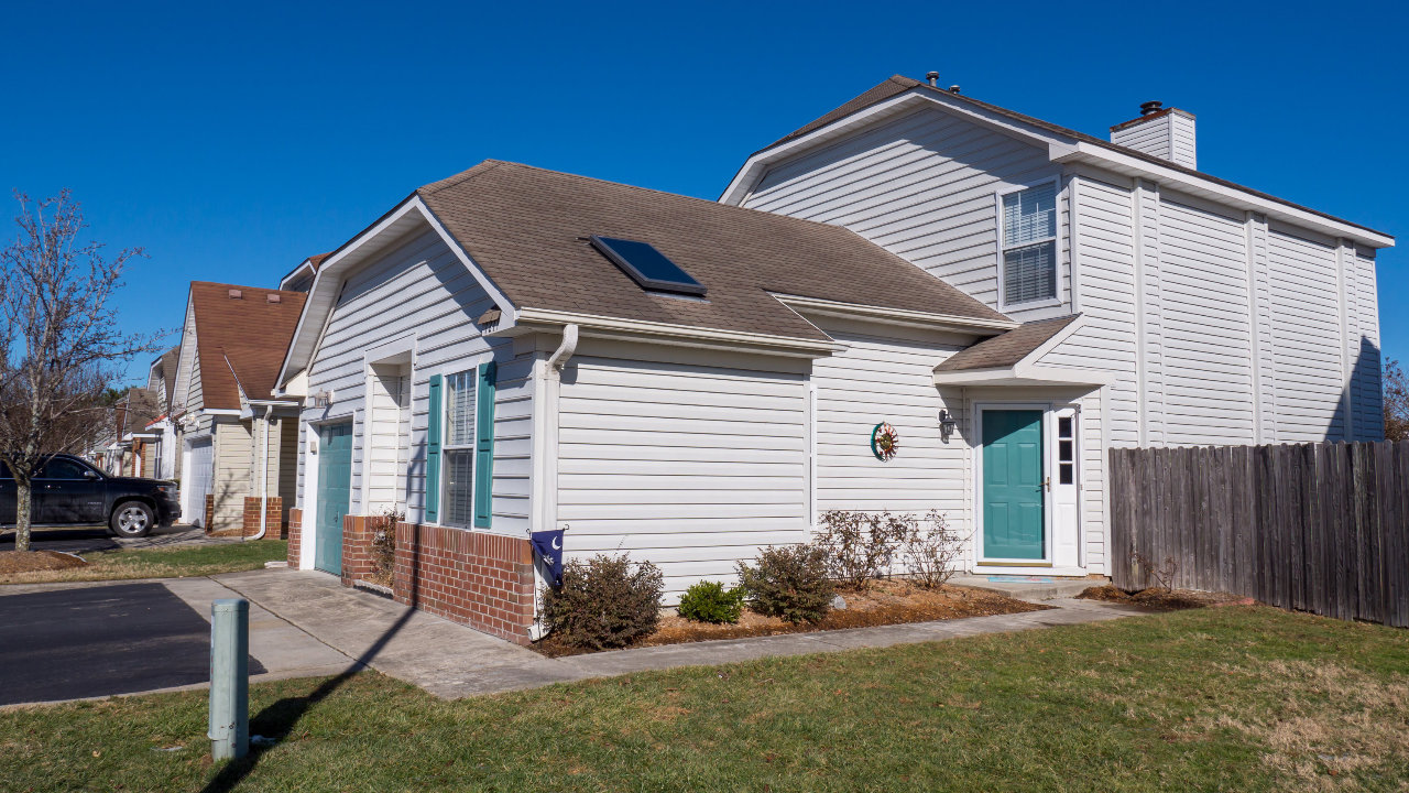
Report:
[[983,559],[1045,559],[1043,412],[983,411]]

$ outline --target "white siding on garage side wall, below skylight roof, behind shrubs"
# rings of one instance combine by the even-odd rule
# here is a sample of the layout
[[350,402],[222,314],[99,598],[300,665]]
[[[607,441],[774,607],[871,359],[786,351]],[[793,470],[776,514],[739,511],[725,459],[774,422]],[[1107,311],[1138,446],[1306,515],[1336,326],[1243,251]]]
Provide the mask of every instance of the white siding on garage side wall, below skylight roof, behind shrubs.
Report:
[[807,536],[803,374],[709,357],[717,365],[579,353],[562,377],[566,556],[650,560],[672,601],[700,579],[733,581],[734,563],[761,547]]

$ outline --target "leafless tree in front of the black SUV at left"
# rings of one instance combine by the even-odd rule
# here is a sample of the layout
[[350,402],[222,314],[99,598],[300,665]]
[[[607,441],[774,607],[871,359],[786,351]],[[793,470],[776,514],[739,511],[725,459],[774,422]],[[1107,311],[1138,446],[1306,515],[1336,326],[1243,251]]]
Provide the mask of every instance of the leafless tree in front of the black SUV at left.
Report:
[[28,550],[34,476],[93,437],[117,364],[159,337],[121,333],[108,306],[139,248],[107,261],[101,244],[80,243],[87,224],[68,190],[15,198],[20,231],[0,251],[0,463],[17,488],[14,547]]

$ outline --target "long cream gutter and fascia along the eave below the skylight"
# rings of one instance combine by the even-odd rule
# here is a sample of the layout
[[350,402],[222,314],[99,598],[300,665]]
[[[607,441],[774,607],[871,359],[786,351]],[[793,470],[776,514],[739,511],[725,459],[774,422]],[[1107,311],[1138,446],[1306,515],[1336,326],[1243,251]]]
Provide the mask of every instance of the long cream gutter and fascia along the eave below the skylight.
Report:
[[531,330],[557,330],[568,325],[576,325],[583,336],[599,339],[683,344],[809,358],[830,356],[847,349],[845,344],[830,339],[793,339],[765,333],[693,327],[533,308],[520,309],[513,326],[496,329],[489,336],[519,336]]

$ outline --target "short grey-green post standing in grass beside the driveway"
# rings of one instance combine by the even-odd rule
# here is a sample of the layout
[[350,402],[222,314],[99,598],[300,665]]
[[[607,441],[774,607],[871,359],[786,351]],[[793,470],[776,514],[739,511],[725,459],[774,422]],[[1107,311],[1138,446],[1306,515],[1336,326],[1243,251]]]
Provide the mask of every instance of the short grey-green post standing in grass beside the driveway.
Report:
[[249,752],[249,601],[210,604],[210,756]]

